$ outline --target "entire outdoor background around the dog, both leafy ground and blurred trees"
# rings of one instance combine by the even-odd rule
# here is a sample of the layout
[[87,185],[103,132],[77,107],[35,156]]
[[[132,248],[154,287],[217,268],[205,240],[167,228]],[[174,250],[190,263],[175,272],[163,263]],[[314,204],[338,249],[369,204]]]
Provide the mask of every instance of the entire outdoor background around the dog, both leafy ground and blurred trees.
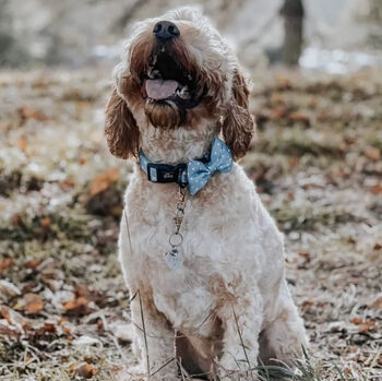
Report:
[[[116,255],[132,164],[104,109],[133,23],[184,4],[0,0],[0,380],[112,380],[132,360]],[[382,1],[188,4],[252,80],[241,164],[286,236],[303,380],[380,380]]]

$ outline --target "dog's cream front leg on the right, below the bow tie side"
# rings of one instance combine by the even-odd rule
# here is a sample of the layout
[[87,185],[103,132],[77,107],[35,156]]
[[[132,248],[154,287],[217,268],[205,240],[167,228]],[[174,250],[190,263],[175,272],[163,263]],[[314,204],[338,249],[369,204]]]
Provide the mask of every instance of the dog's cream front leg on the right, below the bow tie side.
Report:
[[259,291],[227,301],[219,310],[225,329],[218,360],[220,380],[254,380],[262,326],[263,301]]

